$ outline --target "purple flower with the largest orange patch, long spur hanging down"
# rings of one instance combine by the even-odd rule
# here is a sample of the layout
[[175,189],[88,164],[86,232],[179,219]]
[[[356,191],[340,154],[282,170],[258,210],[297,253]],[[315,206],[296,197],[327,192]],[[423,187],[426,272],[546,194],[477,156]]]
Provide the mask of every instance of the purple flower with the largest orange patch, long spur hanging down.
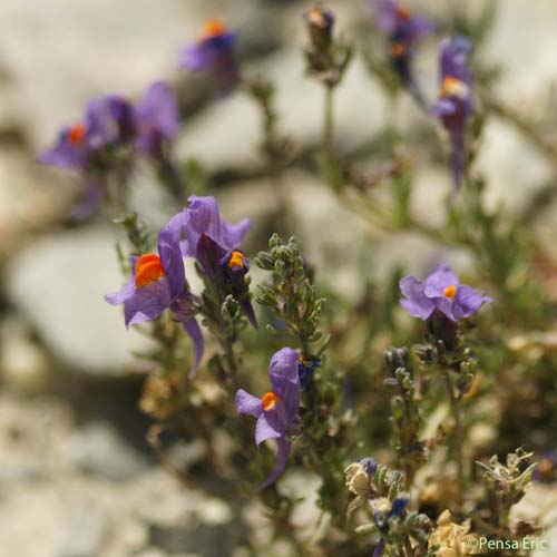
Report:
[[131,257],[130,280],[118,292],[107,294],[105,300],[113,305],[124,304],[126,326],[152,321],[167,309],[173,311],[194,343],[193,375],[202,359],[204,343],[199,325],[187,305],[192,297],[178,238],[167,225],[158,234],[158,254]]

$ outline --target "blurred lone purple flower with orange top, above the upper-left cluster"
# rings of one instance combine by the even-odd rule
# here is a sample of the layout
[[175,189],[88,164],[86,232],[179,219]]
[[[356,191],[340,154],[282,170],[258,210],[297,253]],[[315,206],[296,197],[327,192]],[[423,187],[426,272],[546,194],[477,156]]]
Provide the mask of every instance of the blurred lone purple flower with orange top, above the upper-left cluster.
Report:
[[184,47],[180,65],[189,70],[212,71],[221,94],[227,95],[238,81],[236,42],[236,33],[229,32],[221,20],[209,19],[197,42]]

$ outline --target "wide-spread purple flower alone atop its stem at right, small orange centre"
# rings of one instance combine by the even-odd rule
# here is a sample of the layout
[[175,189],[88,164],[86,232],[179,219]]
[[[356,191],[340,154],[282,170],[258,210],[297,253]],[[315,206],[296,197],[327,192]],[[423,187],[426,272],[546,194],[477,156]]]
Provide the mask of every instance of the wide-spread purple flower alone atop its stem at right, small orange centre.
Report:
[[402,307],[410,315],[422,320],[439,311],[457,322],[475,314],[483,303],[492,301],[471,286],[460,284],[448,265],[440,265],[424,282],[416,276],[402,278],[400,290],[405,296],[405,300],[400,301]]

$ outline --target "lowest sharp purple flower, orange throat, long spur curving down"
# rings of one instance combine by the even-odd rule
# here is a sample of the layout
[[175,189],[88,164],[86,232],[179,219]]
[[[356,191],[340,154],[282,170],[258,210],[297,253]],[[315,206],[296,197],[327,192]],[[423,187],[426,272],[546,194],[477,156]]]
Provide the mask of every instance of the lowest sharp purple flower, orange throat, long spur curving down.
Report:
[[273,483],[284,470],[289,459],[291,443],[286,436],[294,424],[300,409],[300,378],[297,374],[299,354],[291,348],[275,352],[271,359],[268,377],[272,391],[261,399],[240,389],[236,392],[236,411],[257,418],[255,442],[261,444],[266,439],[276,439],[276,465],[260,490]]

